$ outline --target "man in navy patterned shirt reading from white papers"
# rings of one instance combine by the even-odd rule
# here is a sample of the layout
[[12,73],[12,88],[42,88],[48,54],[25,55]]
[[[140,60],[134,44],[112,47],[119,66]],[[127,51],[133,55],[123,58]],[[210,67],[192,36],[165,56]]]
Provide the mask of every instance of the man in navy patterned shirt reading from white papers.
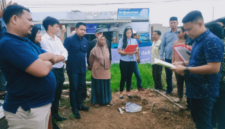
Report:
[[[182,20],[187,35],[194,39],[189,62],[174,64],[172,69],[186,76],[186,95],[197,129],[213,129],[212,108],[219,96],[222,41],[205,28],[201,12],[192,11]],[[185,67],[186,66],[186,67]]]

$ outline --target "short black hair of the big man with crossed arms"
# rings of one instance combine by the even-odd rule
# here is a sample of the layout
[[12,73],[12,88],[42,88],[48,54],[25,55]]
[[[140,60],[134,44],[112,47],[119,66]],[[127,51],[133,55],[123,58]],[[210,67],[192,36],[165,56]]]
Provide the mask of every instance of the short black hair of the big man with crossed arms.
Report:
[[24,6],[18,4],[6,7],[3,13],[3,19],[5,23],[8,24],[13,15],[16,15],[18,17],[21,16],[24,10],[30,12],[28,8],[25,8]]

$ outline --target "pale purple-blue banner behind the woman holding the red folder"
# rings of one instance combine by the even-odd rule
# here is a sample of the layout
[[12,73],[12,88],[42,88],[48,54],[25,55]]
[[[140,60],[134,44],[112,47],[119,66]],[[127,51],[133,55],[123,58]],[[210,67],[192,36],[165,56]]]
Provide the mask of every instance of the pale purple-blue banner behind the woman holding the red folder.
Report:
[[[112,54],[112,64],[120,62],[120,54],[118,49],[111,49]],[[151,63],[151,46],[149,47],[141,47],[140,48],[140,58],[141,64]]]

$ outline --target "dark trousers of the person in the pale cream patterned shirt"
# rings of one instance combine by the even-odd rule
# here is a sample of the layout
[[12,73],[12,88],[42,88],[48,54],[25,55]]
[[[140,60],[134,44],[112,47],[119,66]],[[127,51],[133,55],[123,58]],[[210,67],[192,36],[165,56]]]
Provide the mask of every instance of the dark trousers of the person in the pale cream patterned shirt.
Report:
[[162,90],[162,66],[160,65],[152,65],[152,75],[153,75],[153,80],[154,80],[154,87],[157,90]]

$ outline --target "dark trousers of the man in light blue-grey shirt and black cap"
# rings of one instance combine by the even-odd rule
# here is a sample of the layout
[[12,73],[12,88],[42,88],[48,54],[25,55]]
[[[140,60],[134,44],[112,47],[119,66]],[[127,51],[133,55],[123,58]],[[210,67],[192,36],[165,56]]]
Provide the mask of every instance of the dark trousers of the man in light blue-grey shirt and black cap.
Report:
[[[165,62],[171,63],[172,60],[165,59]],[[173,84],[172,84],[173,72],[169,68],[165,69],[166,69],[166,83],[167,83],[166,93],[170,94],[173,91]]]

